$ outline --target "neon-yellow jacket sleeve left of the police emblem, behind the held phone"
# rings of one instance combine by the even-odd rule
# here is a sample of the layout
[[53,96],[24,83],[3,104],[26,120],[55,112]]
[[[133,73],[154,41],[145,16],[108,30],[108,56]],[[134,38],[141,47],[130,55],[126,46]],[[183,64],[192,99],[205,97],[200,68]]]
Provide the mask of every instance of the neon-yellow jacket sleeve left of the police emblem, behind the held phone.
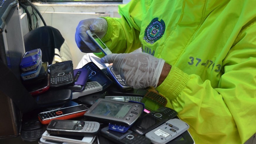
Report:
[[[126,5],[119,5],[121,18],[103,17],[107,20],[108,29],[102,41],[112,53],[129,53],[141,47],[139,33],[147,3],[143,0],[133,0]],[[102,53],[95,55],[104,56]]]

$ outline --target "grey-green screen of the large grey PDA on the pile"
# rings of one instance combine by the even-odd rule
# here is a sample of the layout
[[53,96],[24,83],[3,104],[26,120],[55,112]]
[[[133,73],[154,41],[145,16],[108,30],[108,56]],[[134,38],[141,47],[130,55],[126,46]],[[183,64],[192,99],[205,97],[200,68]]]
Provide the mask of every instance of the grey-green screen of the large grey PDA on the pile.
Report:
[[104,115],[113,118],[124,118],[124,116],[129,112],[132,105],[114,103],[108,101],[101,101],[97,107],[95,107],[91,113],[96,115]]

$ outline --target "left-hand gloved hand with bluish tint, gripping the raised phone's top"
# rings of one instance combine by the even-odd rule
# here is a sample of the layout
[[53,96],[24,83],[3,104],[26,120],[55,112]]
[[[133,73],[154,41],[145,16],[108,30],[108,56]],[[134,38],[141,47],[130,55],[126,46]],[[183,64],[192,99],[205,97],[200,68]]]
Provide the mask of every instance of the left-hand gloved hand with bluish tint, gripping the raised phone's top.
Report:
[[99,53],[101,50],[99,47],[90,39],[87,35],[86,31],[93,31],[99,38],[103,38],[103,36],[107,33],[107,21],[103,18],[97,19],[84,19],[79,22],[75,39],[78,48],[83,53]]

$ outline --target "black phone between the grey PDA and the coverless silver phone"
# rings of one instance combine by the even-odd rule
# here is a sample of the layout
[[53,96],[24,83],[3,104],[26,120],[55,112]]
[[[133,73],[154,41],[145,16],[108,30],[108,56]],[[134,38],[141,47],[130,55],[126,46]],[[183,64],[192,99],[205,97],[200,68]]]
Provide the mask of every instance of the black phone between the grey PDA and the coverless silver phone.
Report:
[[161,107],[158,110],[152,111],[140,117],[132,125],[131,130],[141,135],[146,134],[150,130],[162,125],[167,120],[174,118],[177,112],[171,108]]

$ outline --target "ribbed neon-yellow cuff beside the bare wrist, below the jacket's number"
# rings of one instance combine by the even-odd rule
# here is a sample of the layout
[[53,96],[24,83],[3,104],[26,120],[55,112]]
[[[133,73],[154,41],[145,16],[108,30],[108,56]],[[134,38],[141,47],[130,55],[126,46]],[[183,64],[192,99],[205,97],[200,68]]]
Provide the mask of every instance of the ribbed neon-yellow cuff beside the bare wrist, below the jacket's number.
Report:
[[187,86],[188,81],[188,74],[172,66],[168,76],[156,90],[171,101],[179,96],[181,91]]

